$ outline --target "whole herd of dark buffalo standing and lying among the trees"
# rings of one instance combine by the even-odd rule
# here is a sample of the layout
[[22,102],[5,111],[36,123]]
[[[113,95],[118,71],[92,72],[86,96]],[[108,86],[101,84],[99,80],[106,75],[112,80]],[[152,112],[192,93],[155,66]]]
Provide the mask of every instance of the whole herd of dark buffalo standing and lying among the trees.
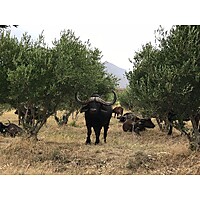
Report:
[[[141,131],[145,131],[146,128],[154,128],[155,124],[152,122],[151,118],[139,118],[134,115],[132,112],[123,113],[124,109],[121,106],[117,106],[114,109],[112,106],[116,103],[117,97],[116,93],[113,92],[113,100],[111,102],[104,101],[98,94],[93,94],[88,100],[80,100],[78,97],[78,93],[75,94],[75,99],[77,102],[82,104],[82,108],[80,112],[85,112],[85,122],[87,127],[87,139],[86,144],[91,144],[91,133],[92,128],[95,132],[96,140],[95,144],[100,142],[100,132],[101,129],[104,128],[104,142],[106,142],[107,132],[110,124],[110,119],[112,114],[114,113],[114,118],[117,117],[120,123],[122,123],[122,129],[124,132],[133,132],[137,135],[141,135]],[[15,111],[15,114],[18,115],[19,125],[21,121],[24,119],[27,120],[27,123],[33,123],[32,116],[30,115],[31,111],[28,109],[22,109],[20,112],[18,110]],[[173,115],[168,114],[169,123],[169,131],[168,134],[172,134],[172,122]],[[39,112],[35,112],[34,120],[40,120],[42,118]],[[160,119],[156,119],[158,125],[160,127],[161,121]],[[197,126],[199,126],[200,114],[198,114],[195,118]],[[11,137],[15,137],[18,133],[23,132],[23,129],[17,126],[16,124],[10,123],[3,124],[0,122],[0,132],[5,136],[6,134]]]

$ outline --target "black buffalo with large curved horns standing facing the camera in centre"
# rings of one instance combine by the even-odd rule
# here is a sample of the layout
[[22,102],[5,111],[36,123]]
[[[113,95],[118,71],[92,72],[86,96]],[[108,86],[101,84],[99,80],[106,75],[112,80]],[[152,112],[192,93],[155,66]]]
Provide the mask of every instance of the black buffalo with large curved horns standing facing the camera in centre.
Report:
[[104,127],[104,142],[106,142],[107,131],[109,128],[110,119],[112,117],[112,105],[117,100],[116,93],[114,91],[112,92],[114,94],[114,99],[112,102],[104,101],[98,94],[92,95],[87,101],[82,101],[78,98],[78,94],[76,93],[76,100],[84,105],[80,112],[85,112],[85,121],[87,126],[86,144],[91,144],[90,136],[92,133],[92,127],[96,135],[95,144],[100,142],[99,136],[102,127]]

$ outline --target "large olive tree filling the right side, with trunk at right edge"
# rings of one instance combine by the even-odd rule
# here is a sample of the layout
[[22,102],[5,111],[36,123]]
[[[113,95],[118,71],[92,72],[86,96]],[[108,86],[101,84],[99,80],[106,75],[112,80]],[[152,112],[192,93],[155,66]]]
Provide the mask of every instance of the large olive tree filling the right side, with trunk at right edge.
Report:
[[199,26],[173,26],[169,33],[158,30],[159,45],[143,46],[136,52],[133,71],[127,74],[132,98],[145,113],[176,113],[182,122],[190,118],[193,133],[185,133],[191,148],[198,149],[199,130],[195,116],[200,107]]

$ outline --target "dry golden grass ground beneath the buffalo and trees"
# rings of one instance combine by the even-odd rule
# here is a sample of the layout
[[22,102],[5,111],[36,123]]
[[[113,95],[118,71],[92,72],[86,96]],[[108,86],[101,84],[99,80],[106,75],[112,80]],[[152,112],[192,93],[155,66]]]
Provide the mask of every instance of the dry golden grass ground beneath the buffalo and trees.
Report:
[[[0,121],[18,123],[14,111],[4,113]],[[155,122],[155,121],[154,121]],[[156,127],[135,136],[122,130],[111,119],[107,143],[85,145],[83,114],[76,126],[58,126],[49,118],[38,134],[39,141],[0,135],[0,174],[5,175],[151,175],[200,174],[200,153],[188,148],[188,140],[177,130],[173,136]]]

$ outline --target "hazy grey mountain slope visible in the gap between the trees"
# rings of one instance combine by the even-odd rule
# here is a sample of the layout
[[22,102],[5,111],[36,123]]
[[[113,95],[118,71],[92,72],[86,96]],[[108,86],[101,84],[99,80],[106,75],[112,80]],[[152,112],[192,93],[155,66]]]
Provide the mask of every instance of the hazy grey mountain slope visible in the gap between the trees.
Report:
[[116,65],[109,63],[109,62],[104,62],[104,66],[105,66],[105,70],[106,72],[108,72],[109,74],[113,74],[114,76],[116,76],[119,80],[119,88],[126,88],[126,86],[128,85],[128,80],[126,78],[125,69],[122,69],[120,67],[117,67]]

